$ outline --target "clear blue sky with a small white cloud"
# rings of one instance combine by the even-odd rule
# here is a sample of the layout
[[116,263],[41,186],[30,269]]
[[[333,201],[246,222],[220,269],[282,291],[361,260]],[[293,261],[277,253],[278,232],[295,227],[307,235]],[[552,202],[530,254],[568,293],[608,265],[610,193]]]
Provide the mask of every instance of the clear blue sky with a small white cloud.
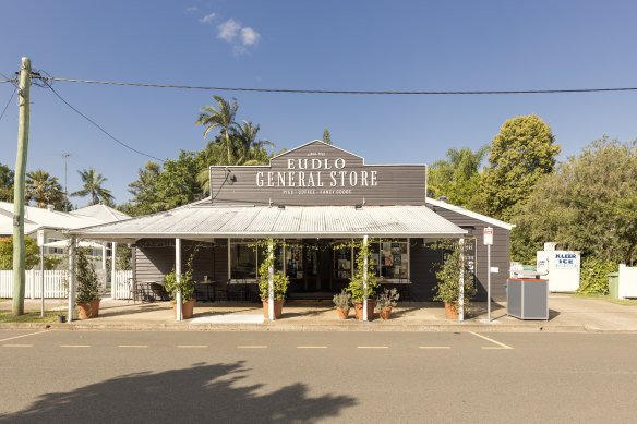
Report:
[[[635,1],[3,1],[0,72],[21,57],[64,78],[256,88],[371,90],[637,86]],[[152,7],[151,7],[152,4]],[[321,138],[368,163],[431,163],[449,147],[490,143],[502,123],[537,113],[563,156],[604,134],[637,137],[637,92],[507,96],[211,93],[58,82],[69,102],[160,158],[205,145],[194,125],[212,95],[278,148]],[[12,87],[0,84],[0,108]],[[32,90],[28,169],[69,191],[77,170],[108,178],[116,202],[147,158],[123,149],[44,88]],[[0,110],[1,111],[1,110]],[[15,163],[15,100],[0,121],[0,162]],[[82,205],[85,201],[76,199]]]

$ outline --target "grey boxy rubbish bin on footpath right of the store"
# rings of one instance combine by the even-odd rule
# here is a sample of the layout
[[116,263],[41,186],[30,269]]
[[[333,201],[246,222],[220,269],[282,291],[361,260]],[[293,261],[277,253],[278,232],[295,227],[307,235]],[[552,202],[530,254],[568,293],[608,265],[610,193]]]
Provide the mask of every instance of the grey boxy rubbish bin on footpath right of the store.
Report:
[[539,278],[506,280],[506,313],[519,319],[549,319],[549,281]]

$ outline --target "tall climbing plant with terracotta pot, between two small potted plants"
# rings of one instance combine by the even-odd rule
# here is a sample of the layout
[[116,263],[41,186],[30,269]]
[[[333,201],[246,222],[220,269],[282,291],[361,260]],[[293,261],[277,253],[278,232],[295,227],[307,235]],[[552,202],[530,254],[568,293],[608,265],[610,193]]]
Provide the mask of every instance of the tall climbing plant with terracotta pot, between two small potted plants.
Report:
[[372,252],[370,250],[370,246],[375,243],[377,243],[377,240],[370,239],[366,243],[363,240],[352,240],[334,246],[335,250],[341,247],[353,247],[357,250],[356,268],[346,289],[353,300],[357,319],[363,319],[363,299],[365,295],[368,300],[368,319],[374,319],[376,290],[381,286],[376,277],[375,267],[372,265]]

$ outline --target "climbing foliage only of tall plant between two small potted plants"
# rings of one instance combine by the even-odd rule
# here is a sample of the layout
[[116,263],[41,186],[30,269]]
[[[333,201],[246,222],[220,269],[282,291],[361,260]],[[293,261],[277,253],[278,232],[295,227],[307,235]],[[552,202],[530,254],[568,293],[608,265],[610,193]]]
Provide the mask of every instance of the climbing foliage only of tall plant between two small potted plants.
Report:
[[[356,250],[356,266],[353,275],[349,279],[347,291],[351,293],[351,298],[357,302],[362,302],[365,295],[368,299],[375,299],[376,290],[381,287],[375,267],[372,265],[371,246],[377,243],[378,240],[375,239],[369,239],[366,244],[362,239],[358,239],[333,246],[334,250],[342,247],[353,247]],[[366,289],[364,287],[365,279]]]

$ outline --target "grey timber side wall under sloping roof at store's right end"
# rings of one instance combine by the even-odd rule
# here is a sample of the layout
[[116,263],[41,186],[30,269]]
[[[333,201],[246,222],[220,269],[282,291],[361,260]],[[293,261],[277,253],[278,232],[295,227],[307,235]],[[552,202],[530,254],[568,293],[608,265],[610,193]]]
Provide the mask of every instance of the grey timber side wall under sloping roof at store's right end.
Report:
[[454,222],[456,226],[469,231],[467,237],[476,238],[476,277],[478,282],[478,295],[476,300],[486,301],[486,246],[482,231],[486,227],[493,228],[493,245],[491,246],[491,266],[497,267],[498,272],[491,275],[491,298],[496,301],[506,300],[505,283],[509,275],[509,235],[510,231],[492,226],[476,218],[445,209],[440,206],[428,205],[436,214]]

